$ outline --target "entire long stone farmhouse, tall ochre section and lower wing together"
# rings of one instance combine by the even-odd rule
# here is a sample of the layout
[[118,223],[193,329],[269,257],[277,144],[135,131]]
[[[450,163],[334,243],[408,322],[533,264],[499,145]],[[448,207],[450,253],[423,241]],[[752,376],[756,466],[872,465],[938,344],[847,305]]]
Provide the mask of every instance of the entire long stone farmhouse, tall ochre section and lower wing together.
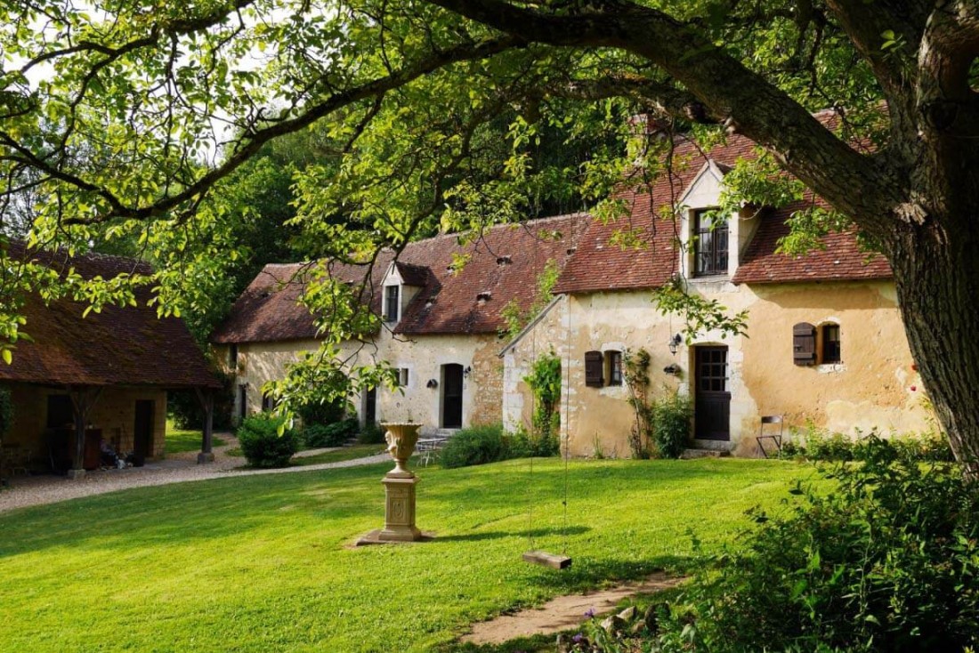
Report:
[[[724,175],[738,158],[754,156],[754,144],[739,136],[707,154],[680,143],[682,169],[651,189],[624,189],[629,214],[618,221],[546,218],[490,228],[471,246],[452,235],[411,243],[368,271],[335,266],[331,273],[344,281],[369,282],[372,309],[386,319],[369,347],[354,352],[350,344],[351,360],[387,360],[401,375],[398,392],[357,398],[361,422],[411,418],[429,431],[500,420],[510,430],[529,425],[533,399],[523,378],[553,349],[562,361],[561,430],[571,453],[629,455],[623,360],[644,349],[651,393],[674,388],[692,397],[699,447],[757,454],[763,415],[846,432],[927,429],[882,257],[867,258],[851,233],[825,236],[823,249],[808,256],[777,253],[786,218],[816,198],[779,210],[746,207],[708,223]],[[641,247],[614,244],[624,228]],[[469,263],[454,272],[453,255]],[[512,342],[501,340],[501,309],[536,301],[535,279],[547,261],[560,269],[554,299]],[[237,371],[240,416],[262,409],[262,384],[316,347],[312,319],[297,303],[302,269],[266,266],[213,336]],[[747,334],[687,333],[678,316],[661,314],[651,290],[677,279],[729,313],[747,310]]]

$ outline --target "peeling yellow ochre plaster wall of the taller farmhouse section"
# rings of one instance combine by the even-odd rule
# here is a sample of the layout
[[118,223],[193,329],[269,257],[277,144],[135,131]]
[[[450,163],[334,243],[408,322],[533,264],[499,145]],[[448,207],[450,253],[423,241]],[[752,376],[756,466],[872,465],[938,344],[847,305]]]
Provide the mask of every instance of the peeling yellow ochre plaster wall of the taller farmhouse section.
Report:
[[[790,427],[817,427],[855,434],[880,429],[885,435],[927,430],[920,378],[912,369],[908,342],[890,282],[841,282],[735,286],[728,281],[691,283],[692,292],[716,299],[730,313],[747,309],[747,337],[698,334],[676,354],[670,337],[684,331],[676,317],[663,316],[648,291],[590,293],[563,297],[536,326],[504,353],[504,426],[530,424],[533,398],[523,377],[542,351],[553,347],[564,374],[562,436],[572,455],[629,455],[633,414],[626,387],[584,385],[586,350],[638,350],[651,355],[650,395],[676,388],[690,393],[694,348],[728,348],[727,390],[730,441],[698,441],[738,455],[757,455],[760,417],[783,414]],[[792,326],[809,322],[840,325],[841,362],[814,367],[793,361]],[[676,376],[664,368],[676,363]],[[912,390],[913,389],[913,390]]]

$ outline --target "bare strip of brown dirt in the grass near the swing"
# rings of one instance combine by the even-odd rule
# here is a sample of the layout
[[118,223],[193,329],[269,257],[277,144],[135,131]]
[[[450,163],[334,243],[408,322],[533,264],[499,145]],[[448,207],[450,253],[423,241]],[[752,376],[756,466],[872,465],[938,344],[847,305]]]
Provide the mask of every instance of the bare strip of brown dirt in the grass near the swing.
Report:
[[540,608],[500,615],[492,621],[476,624],[472,632],[462,636],[462,641],[473,644],[502,644],[517,637],[571,630],[588,620],[584,613],[589,610],[596,615],[612,612],[624,598],[663,591],[682,581],[681,578],[657,573],[637,583],[623,583],[587,594],[558,596]]

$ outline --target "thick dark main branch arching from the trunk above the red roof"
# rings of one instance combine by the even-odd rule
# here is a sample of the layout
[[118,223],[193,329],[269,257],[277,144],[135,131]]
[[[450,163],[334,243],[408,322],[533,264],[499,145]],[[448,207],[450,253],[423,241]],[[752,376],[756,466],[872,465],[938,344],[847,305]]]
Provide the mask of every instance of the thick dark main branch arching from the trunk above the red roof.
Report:
[[[862,155],[820,124],[758,73],[726,55],[695,27],[626,0],[606,0],[598,10],[556,15],[502,0],[430,0],[470,20],[531,42],[611,47],[666,70],[710,113],[726,117],[790,172],[858,221],[879,232],[903,201],[896,172],[883,154]],[[853,193],[854,186],[864,189]]]

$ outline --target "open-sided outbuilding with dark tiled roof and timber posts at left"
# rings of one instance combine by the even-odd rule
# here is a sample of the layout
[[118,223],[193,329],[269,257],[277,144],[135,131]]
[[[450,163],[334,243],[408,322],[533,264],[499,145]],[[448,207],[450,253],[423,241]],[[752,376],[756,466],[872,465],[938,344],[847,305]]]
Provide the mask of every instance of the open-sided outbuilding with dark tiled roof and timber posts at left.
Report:
[[[72,267],[88,279],[150,272],[130,258],[70,257],[29,251],[19,242],[10,244],[10,253],[58,271]],[[37,468],[83,476],[101,464],[103,441],[142,460],[160,457],[167,391],[195,390],[212,415],[221,383],[204,353],[181,320],[158,319],[148,287],[135,295],[135,306],[107,305],[87,314],[86,303],[45,304],[27,296],[24,331],[32,341],[17,344],[12,364],[0,363],[0,385],[10,389],[14,404],[13,428],[3,442],[5,472]],[[212,459],[209,424],[199,460]]]

